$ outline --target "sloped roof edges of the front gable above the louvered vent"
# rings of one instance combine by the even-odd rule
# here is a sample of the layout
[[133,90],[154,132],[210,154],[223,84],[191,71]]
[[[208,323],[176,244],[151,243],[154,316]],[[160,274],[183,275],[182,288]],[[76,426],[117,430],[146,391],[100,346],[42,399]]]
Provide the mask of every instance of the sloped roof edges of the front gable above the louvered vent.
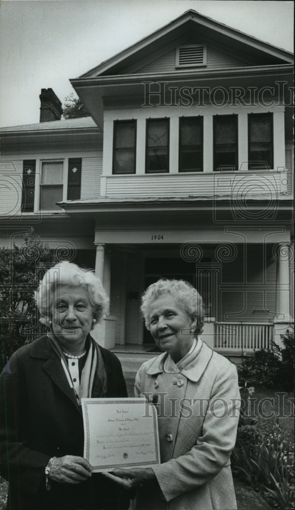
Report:
[[237,53],[250,55],[256,64],[259,64],[259,61],[265,65],[293,62],[292,53],[227,27],[223,23],[190,9],[151,35],[94,67],[80,78],[124,73],[124,69],[132,66],[135,60],[145,58],[146,55],[151,54],[163,44],[167,45],[190,31],[197,31],[199,36],[209,38],[218,44],[234,47]]

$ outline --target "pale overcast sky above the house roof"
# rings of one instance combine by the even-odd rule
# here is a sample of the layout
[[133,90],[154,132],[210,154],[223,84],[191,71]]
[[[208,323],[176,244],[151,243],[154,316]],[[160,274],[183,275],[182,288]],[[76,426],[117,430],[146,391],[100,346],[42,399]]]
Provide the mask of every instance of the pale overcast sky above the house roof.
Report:
[[293,2],[0,0],[0,126],[39,122],[41,88],[62,103],[77,78],[188,9],[293,51]]

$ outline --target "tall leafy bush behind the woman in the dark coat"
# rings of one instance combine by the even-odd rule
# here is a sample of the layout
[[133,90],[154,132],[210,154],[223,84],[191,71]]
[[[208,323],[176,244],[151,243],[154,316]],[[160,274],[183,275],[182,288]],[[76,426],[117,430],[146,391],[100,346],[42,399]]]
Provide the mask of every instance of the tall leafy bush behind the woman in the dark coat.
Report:
[[0,361],[3,365],[21,345],[44,333],[44,327],[37,322],[34,290],[54,263],[52,250],[33,234],[26,234],[21,246],[0,248]]

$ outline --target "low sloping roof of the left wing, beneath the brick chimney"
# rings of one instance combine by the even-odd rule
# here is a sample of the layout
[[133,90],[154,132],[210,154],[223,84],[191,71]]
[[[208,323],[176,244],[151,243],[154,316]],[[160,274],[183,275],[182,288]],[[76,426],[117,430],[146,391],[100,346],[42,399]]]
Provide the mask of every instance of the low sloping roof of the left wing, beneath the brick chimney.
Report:
[[21,133],[21,132],[42,132],[42,131],[60,131],[70,129],[97,127],[92,117],[82,117],[78,119],[53,120],[51,122],[38,122],[37,124],[24,124],[20,126],[1,127],[1,133]]

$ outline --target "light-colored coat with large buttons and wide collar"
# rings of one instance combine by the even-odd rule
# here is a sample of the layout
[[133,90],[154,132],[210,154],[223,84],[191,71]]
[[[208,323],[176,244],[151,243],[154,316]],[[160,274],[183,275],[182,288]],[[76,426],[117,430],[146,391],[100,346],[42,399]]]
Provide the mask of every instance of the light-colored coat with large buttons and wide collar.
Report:
[[236,368],[204,342],[181,373],[164,373],[165,358],[147,361],[136,377],[136,396],[158,395],[161,457],[152,468],[158,484],[138,491],[136,508],[235,509],[229,457],[239,414]]

